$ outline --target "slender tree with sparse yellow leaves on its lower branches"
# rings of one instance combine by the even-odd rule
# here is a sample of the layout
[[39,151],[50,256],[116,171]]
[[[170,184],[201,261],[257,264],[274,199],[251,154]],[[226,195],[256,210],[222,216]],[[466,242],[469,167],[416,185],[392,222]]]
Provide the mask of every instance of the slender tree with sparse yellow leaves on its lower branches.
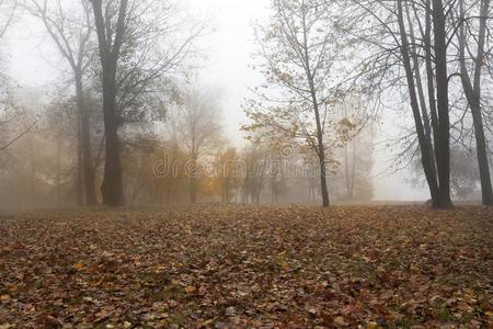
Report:
[[[273,131],[285,140],[309,145],[319,160],[322,203],[326,207],[328,145],[332,144],[328,138],[339,124],[330,122],[336,98],[331,79],[336,59],[343,59],[343,47],[335,37],[337,29],[329,27],[329,22],[332,11],[340,8],[320,0],[273,0],[272,8],[272,22],[259,27],[256,38],[266,84],[263,91],[256,90],[256,100],[245,104],[252,121],[245,129]],[[268,89],[274,91],[268,93]]]

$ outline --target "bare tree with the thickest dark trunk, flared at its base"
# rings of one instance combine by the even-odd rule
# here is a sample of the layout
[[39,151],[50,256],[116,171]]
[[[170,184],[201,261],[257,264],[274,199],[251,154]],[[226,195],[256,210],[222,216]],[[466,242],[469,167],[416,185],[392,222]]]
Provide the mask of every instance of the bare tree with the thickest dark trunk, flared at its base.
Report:
[[[103,3],[105,5],[103,5]],[[168,1],[93,0],[106,134],[103,201],[124,203],[118,128],[149,115],[171,76],[192,57],[204,24],[187,24]],[[103,10],[104,8],[104,10]]]

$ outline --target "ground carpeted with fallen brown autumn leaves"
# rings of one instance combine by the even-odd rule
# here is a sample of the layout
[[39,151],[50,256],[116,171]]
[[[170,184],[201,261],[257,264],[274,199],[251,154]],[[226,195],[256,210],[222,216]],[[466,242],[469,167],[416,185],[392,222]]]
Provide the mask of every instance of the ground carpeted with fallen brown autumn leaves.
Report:
[[0,217],[0,328],[493,328],[493,209]]

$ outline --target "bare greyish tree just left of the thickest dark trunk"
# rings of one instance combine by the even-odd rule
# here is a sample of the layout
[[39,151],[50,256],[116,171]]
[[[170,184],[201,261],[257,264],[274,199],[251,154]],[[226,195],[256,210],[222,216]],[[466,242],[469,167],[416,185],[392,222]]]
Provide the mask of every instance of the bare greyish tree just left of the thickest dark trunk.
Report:
[[[51,5],[50,5],[51,4]],[[61,56],[67,60],[72,71],[76,102],[80,120],[79,145],[82,164],[83,190],[85,204],[98,204],[95,196],[95,173],[93,170],[92,146],[90,134],[89,106],[85,104],[84,79],[90,64],[90,42],[93,32],[90,4],[88,0],[80,0],[78,8],[64,5],[61,0],[50,1],[28,0],[26,4],[31,14],[38,18],[48,35],[57,46]],[[79,10],[82,9],[82,10]],[[82,13],[81,18],[78,14]]]

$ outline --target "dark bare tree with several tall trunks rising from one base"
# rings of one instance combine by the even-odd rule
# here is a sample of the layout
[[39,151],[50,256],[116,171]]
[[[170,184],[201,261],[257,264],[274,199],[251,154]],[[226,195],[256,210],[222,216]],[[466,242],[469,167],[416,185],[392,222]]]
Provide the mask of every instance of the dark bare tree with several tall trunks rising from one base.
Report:
[[351,33],[369,52],[356,78],[367,77],[380,97],[403,92],[414,122],[413,134],[402,138],[411,140],[405,151],[417,143],[433,205],[450,207],[449,11],[442,0],[351,2]]

